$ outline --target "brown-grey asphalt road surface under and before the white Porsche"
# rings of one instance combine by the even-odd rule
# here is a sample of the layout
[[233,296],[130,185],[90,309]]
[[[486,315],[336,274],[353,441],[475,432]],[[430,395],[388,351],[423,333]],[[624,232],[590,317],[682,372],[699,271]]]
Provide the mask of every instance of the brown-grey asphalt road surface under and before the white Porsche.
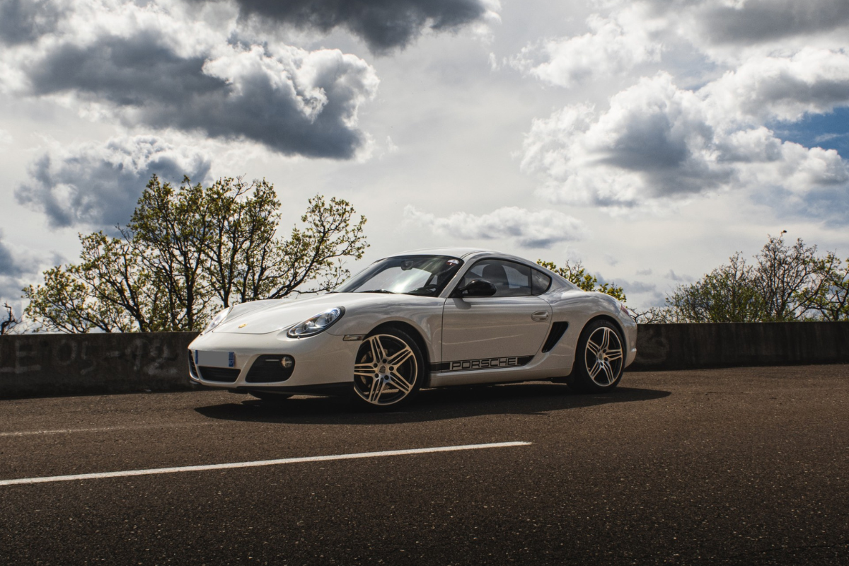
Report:
[[847,564],[849,366],[425,391],[0,401],[3,564]]

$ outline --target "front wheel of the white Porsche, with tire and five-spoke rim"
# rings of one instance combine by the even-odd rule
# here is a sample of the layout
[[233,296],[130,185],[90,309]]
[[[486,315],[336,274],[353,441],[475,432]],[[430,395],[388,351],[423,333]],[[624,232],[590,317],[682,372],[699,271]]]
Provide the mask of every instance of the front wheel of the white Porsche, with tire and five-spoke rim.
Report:
[[387,328],[370,334],[354,361],[354,401],[373,411],[406,405],[424,381],[424,356],[408,333]]

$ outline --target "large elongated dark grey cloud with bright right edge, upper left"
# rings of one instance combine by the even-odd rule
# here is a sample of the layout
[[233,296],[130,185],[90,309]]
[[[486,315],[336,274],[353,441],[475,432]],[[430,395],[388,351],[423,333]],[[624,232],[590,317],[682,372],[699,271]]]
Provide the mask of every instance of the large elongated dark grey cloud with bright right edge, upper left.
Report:
[[27,74],[31,93],[105,103],[130,126],[244,137],[308,157],[347,159],[363,145],[357,107],[377,86],[368,64],[330,50],[275,59],[230,49],[223,62],[183,57],[156,31],[137,31],[53,48]]

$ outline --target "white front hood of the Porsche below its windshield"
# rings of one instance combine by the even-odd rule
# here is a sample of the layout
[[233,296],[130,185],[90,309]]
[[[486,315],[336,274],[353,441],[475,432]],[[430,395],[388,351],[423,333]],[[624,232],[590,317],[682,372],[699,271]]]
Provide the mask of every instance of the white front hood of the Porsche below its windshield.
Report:
[[409,304],[410,300],[419,299],[433,300],[432,297],[384,293],[329,293],[309,299],[257,300],[236,305],[227,320],[212,333],[267,334],[289,328],[335,306],[343,306],[348,312],[357,307]]

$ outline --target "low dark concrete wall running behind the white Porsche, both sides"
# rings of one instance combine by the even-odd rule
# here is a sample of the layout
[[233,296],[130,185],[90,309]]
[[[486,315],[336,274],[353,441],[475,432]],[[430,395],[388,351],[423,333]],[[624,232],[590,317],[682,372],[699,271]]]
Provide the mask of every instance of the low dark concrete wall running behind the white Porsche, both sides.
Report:
[[[0,336],[0,399],[193,389],[197,333]],[[641,324],[628,371],[849,363],[849,322]]]

